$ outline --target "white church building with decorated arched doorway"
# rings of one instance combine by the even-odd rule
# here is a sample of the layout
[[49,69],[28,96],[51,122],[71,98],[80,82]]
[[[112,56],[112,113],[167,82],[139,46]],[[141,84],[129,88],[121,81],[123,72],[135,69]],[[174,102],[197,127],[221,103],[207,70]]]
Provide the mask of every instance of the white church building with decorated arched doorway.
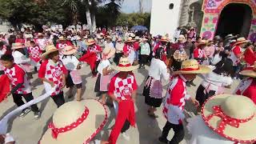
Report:
[[256,0],[152,0],[150,33],[193,26],[202,37],[240,34],[256,41]]

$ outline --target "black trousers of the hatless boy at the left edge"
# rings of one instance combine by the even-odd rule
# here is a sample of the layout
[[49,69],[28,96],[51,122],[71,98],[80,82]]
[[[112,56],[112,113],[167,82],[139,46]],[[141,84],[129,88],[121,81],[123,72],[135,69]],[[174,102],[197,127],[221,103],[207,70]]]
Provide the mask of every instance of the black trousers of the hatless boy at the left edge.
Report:
[[[31,100],[34,99],[32,93],[30,94],[12,94],[13,95],[13,99],[14,99],[14,103],[17,106],[22,106],[25,104],[25,102],[23,102],[22,97],[26,100],[26,102],[30,102]],[[38,112],[38,106],[36,104],[31,106],[31,110],[34,112]]]

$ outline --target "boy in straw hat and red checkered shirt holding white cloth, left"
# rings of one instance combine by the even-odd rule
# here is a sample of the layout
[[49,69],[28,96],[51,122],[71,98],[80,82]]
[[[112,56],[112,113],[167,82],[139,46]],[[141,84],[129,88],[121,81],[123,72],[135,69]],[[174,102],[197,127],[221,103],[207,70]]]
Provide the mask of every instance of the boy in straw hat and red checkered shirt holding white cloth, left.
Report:
[[38,70],[38,78],[42,79],[46,91],[55,88],[51,98],[58,107],[62,106],[65,103],[62,89],[66,85],[67,70],[59,60],[58,49],[54,45],[46,46],[46,52],[41,58],[45,61]]

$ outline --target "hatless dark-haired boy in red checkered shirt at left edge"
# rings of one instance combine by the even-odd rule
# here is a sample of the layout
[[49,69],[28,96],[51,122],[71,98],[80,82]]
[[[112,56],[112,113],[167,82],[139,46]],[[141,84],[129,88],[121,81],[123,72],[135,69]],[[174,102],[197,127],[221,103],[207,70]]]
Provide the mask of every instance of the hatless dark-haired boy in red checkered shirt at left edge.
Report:
[[[14,63],[14,57],[11,54],[4,54],[1,57],[4,73],[8,76],[11,82],[10,94],[13,95],[14,103],[17,106],[25,104],[22,101],[22,97],[25,98],[26,102],[30,102],[34,99],[31,91],[30,81],[26,76],[26,72],[22,70],[20,66]],[[10,95],[8,94],[8,95]],[[37,105],[32,105],[31,109],[27,108],[22,110],[20,117],[26,116],[32,110],[34,112],[34,119],[40,118],[40,111]]]

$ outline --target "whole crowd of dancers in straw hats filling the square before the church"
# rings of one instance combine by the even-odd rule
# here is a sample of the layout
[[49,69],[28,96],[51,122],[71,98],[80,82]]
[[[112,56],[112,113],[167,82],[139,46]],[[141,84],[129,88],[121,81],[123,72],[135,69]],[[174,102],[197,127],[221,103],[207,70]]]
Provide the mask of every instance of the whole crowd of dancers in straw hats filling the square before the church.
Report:
[[[256,45],[239,35],[216,36],[209,40],[199,37],[194,28],[182,34],[177,30],[174,38],[168,34],[152,37],[129,30],[123,33],[101,30],[94,34],[74,30],[62,33],[25,30],[17,34],[2,33],[0,38],[0,78],[11,86],[10,90],[2,90],[1,100],[12,95],[17,106],[25,104],[22,98],[32,101],[33,72],[38,73],[46,91],[54,89],[50,98],[58,106],[54,118],[59,120],[50,123],[40,143],[71,143],[73,136],[78,137],[77,143],[90,142],[106,123],[106,98],[113,102],[116,118],[109,139],[102,143],[116,143],[119,134],[129,140],[126,130],[136,123],[134,102],[138,90],[133,70],[146,69],[146,66],[149,66],[149,73],[142,94],[147,113],[150,118],[158,118],[155,111],[162,105],[167,120],[158,138],[160,142],[182,142],[184,122],[190,123],[192,135],[197,122],[201,125],[205,122],[202,129],[210,127],[219,141],[253,143],[256,140]],[[81,72],[85,64],[90,66],[93,77],[97,77],[94,91],[102,97],[101,102],[82,97]],[[198,74],[203,80],[193,98],[187,94],[186,87],[196,86],[194,79]],[[162,94],[162,81],[168,82],[166,94]],[[234,81],[240,82],[238,88],[233,94],[224,94]],[[68,98],[74,97],[72,90],[76,88],[75,102],[65,104],[65,87],[70,89]],[[190,121],[183,114],[187,100],[198,107],[196,120]],[[37,104],[22,110],[20,116],[26,116],[30,110],[35,119],[41,117]],[[63,115],[63,110],[71,110],[70,113],[75,110],[81,115]],[[90,122],[95,121],[91,117],[97,114],[105,117],[99,118],[101,123],[95,129]],[[75,118],[70,118],[72,116]],[[64,117],[66,120],[61,120]],[[70,122],[74,119],[78,120]],[[91,134],[85,132],[89,129]],[[170,129],[174,130],[174,137],[168,140]]]

